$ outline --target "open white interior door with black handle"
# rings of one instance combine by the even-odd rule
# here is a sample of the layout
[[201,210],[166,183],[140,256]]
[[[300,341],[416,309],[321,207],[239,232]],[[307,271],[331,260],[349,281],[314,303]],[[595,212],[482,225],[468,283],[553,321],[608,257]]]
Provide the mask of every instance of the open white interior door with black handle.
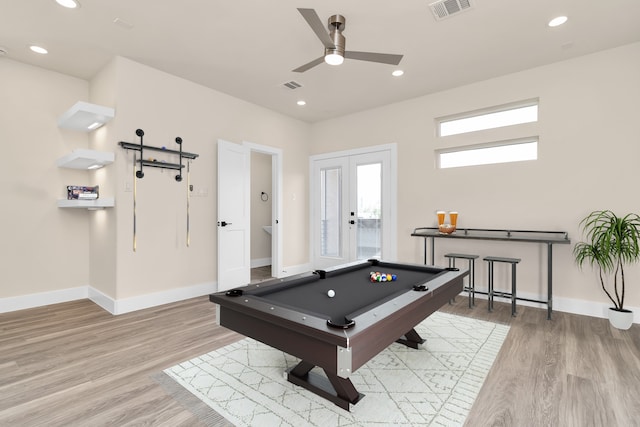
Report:
[[218,140],[218,291],[251,281],[250,154]]

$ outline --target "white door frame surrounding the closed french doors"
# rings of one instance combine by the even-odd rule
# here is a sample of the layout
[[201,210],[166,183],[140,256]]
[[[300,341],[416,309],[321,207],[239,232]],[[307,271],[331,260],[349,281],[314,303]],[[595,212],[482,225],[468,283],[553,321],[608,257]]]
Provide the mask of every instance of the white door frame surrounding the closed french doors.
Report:
[[316,247],[320,242],[316,241],[314,233],[313,215],[320,206],[318,205],[318,195],[314,193],[314,179],[312,176],[314,170],[314,162],[317,160],[333,159],[337,157],[349,157],[360,154],[371,154],[381,151],[389,152],[389,187],[390,194],[387,203],[390,204],[389,223],[389,248],[385,254],[385,261],[395,262],[398,257],[398,145],[396,143],[374,145],[370,147],[354,148],[349,150],[334,151],[331,153],[314,154],[309,157],[309,254],[310,261],[313,263],[315,259]]

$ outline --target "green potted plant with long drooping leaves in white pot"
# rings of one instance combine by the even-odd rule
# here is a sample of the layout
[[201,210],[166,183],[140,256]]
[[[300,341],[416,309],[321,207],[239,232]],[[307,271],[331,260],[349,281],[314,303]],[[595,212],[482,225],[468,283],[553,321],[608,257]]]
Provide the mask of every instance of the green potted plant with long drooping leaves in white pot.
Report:
[[[585,262],[597,267],[602,290],[613,303],[609,321],[616,328],[629,329],[633,312],[624,308],[624,266],[640,260],[640,216],[630,213],[619,217],[609,210],[594,211],[580,226],[587,241],[573,248],[576,262],[579,267]],[[605,279],[607,275],[609,280]]]

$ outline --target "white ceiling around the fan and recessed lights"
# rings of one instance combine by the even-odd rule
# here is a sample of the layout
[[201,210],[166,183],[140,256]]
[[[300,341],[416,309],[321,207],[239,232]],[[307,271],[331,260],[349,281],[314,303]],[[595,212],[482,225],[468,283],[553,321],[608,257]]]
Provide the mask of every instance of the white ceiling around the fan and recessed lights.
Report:
[[[308,122],[640,41],[639,0],[471,0],[441,21],[432,0],[80,2],[70,10],[0,0],[4,57],[90,79],[120,55]],[[347,50],[404,58],[398,67],[347,59],[294,73],[323,53],[296,8],[315,9],[323,23],[344,15]],[[557,15],[569,21],[548,28]],[[30,52],[32,43],[49,54]],[[392,77],[396,68],[404,76]],[[285,88],[291,80],[302,88]]]

